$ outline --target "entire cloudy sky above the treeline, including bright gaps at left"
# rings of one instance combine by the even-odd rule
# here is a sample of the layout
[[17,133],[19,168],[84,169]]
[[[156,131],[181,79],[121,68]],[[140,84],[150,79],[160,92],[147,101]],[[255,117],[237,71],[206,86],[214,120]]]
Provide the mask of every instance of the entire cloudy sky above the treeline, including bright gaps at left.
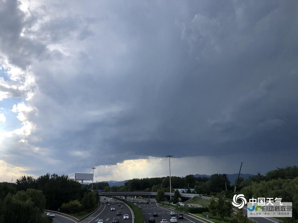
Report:
[[297,1],[0,0],[0,181],[298,165]]

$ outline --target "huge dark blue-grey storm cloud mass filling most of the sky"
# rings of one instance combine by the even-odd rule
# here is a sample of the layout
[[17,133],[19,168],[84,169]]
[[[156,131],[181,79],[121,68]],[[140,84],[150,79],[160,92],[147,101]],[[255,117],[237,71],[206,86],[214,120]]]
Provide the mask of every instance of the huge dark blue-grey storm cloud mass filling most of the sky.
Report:
[[[29,55],[51,44],[62,52],[32,62],[38,89],[28,103],[36,109],[26,113],[35,124],[28,150],[44,149],[53,166],[252,149],[297,155],[295,1],[61,6],[38,31],[26,31],[36,36]],[[24,25],[15,26],[12,36]]]

